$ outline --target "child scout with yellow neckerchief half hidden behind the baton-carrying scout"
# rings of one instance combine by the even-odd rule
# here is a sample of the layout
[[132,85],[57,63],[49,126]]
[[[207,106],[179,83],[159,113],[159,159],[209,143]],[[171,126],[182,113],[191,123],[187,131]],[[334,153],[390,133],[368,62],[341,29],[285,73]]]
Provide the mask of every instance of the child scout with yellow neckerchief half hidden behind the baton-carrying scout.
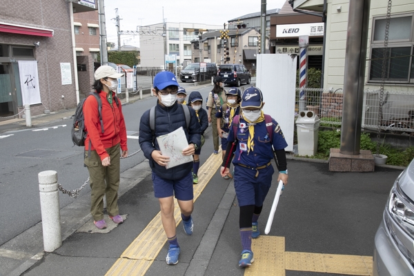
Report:
[[[219,110],[216,113],[217,132],[219,132],[219,137],[221,138],[221,150],[223,154],[223,159],[224,155],[226,155],[229,125],[233,121],[233,118],[236,115],[239,115],[240,101],[242,99],[239,88],[235,87],[230,88],[228,92],[226,92],[226,96],[226,103],[223,106],[220,106]],[[224,116],[223,113],[225,113]],[[229,179],[230,177],[232,177],[232,175],[229,172],[228,175],[224,176],[224,179]]]

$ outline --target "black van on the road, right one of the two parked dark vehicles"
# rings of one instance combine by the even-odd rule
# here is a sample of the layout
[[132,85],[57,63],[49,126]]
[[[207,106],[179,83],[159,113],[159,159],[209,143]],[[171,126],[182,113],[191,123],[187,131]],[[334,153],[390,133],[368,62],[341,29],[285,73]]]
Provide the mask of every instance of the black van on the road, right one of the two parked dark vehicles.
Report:
[[242,83],[250,84],[250,72],[243,64],[221,64],[219,76],[225,84],[240,86]]

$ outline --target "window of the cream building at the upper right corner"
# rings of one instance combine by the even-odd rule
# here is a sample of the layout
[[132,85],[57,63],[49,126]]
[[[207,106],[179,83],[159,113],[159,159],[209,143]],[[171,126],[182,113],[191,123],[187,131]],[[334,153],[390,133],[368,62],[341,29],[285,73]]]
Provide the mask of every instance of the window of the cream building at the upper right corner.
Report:
[[[414,83],[414,14],[399,14],[390,20],[388,48],[386,50],[385,81],[388,83]],[[368,79],[382,80],[382,60],[384,57],[385,17],[373,19],[371,39],[371,59]]]

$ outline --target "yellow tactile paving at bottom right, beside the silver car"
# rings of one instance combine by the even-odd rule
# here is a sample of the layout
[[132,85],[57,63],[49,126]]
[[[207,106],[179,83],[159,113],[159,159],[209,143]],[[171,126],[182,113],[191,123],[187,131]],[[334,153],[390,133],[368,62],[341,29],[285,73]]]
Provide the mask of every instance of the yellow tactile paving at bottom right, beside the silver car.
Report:
[[285,270],[373,275],[373,257],[319,253],[285,252],[284,237],[253,239],[255,262],[244,275],[285,275]]

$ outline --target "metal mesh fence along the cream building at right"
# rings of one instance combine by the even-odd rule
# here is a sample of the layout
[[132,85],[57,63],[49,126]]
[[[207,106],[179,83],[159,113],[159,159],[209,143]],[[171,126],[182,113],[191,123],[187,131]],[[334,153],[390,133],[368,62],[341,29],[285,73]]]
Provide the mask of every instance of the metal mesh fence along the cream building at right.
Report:
[[[296,88],[295,117],[299,111],[299,92]],[[312,110],[321,119],[321,124],[340,126],[344,93],[342,88],[324,90],[305,88],[306,110]],[[364,90],[362,128],[377,130],[380,108],[380,90]],[[414,92],[384,91],[382,104],[382,130],[414,132]]]

